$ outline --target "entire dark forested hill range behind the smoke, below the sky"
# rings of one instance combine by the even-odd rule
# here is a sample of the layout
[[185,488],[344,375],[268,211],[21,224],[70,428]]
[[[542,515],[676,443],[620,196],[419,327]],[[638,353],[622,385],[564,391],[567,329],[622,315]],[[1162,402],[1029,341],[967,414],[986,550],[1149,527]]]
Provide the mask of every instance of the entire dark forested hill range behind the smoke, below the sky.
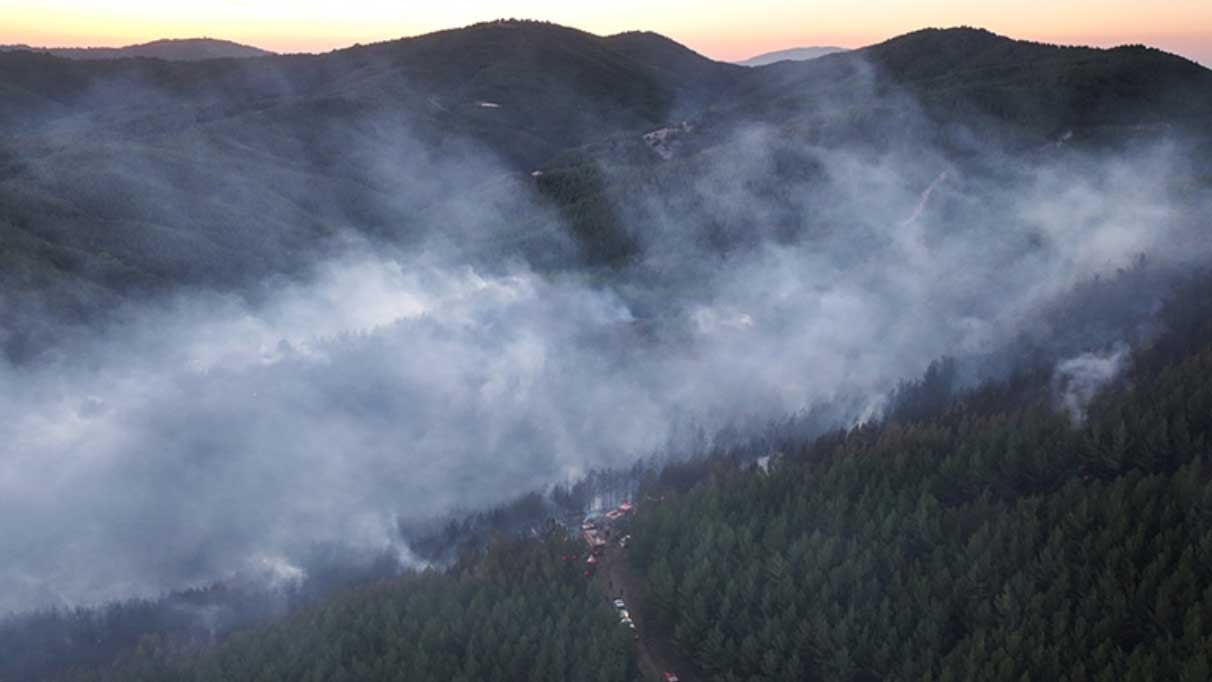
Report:
[[[634,262],[633,227],[656,219],[646,211],[745,157],[755,126],[788,142],[778,173],[802,178],[819,171],[796,157],[805,145],[937,144],[972,164],[1065,133],[1204,134],[1212,116],[1212,71],[1178,57],[974,29],[751,69],[651,33],[490,22],[258,59],[18,51],[0,53],[0,276],[25,292],[8,320],[27,306],[82,320],[182,285],[239,288],[296,270],[336,234],[405,246],[481,188],[511,207],[456,239],[468,254],[504,248],[543,269]],[[430,161],[442,190],[404,182],[434,176]],[[536,170],[537,188],[521,187],[539,201],[524,202],[511,183]],[[779,178],[764,182],[782,196]],[[635,201],[653,193],[667,199]],[[802,212],[779,211],[781,229],[807,229]],[[748,234],[743,214],[696,222],[721,248]],[[39,327],[12,323],[0,343],[17,356],[41,348]]]

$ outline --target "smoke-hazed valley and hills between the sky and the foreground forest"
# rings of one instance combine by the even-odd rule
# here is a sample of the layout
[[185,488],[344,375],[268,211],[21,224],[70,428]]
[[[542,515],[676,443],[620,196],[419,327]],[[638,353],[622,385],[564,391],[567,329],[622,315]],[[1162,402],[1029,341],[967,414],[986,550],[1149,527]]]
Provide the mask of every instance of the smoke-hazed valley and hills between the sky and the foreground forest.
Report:
[[858,424],[943,356],[1080,419],[1212,256],[1212,73],[1143,48],[501,23],[0,74],[0,612],[419,566],[401,520]]

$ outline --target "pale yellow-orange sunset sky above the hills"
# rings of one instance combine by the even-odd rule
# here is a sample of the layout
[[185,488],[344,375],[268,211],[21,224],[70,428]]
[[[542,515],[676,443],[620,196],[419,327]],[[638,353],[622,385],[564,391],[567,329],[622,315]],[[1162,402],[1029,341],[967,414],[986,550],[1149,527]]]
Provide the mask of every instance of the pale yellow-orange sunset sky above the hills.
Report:
[[1143,42],[1212,65],[1208,0],[0,0],[0,44],[120,46],[211,36],[314,52],[494,18],[599,34],[646,29],[724,61],[795,46],[861,47],[926,27],[978,25],[1018,39]]

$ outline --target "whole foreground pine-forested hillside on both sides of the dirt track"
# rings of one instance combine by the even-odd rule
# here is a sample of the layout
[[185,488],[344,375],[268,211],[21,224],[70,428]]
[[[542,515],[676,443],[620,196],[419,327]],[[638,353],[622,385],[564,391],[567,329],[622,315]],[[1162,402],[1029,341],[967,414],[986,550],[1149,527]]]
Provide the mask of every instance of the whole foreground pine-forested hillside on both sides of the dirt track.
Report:
[[[624,555],[641,636],[721,681],[1206,680],[1210,283],[1079,412],[1047,371],[948,397],[932,368],[884,422],[645,476]],[[634,678],[610,591],[549,532],[57,678]]]

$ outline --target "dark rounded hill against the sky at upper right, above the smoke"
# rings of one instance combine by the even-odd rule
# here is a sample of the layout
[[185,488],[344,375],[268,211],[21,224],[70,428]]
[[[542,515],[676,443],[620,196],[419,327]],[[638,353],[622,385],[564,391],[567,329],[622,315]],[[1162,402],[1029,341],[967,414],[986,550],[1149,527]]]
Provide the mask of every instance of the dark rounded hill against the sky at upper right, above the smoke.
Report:
[[[894,114],[910,96],[942,128],[1018,136],[1031,148],[1065,131],[1164,130],[1212,116],[1212,71],[1145,46],[1113,50],[1013,40],[976,28],[924,29],[811,62],[750,69],[720,119],[836,133]],[[829,131],[829,132],[825,132]],[[991,141],[990,141],[991,142]]]

